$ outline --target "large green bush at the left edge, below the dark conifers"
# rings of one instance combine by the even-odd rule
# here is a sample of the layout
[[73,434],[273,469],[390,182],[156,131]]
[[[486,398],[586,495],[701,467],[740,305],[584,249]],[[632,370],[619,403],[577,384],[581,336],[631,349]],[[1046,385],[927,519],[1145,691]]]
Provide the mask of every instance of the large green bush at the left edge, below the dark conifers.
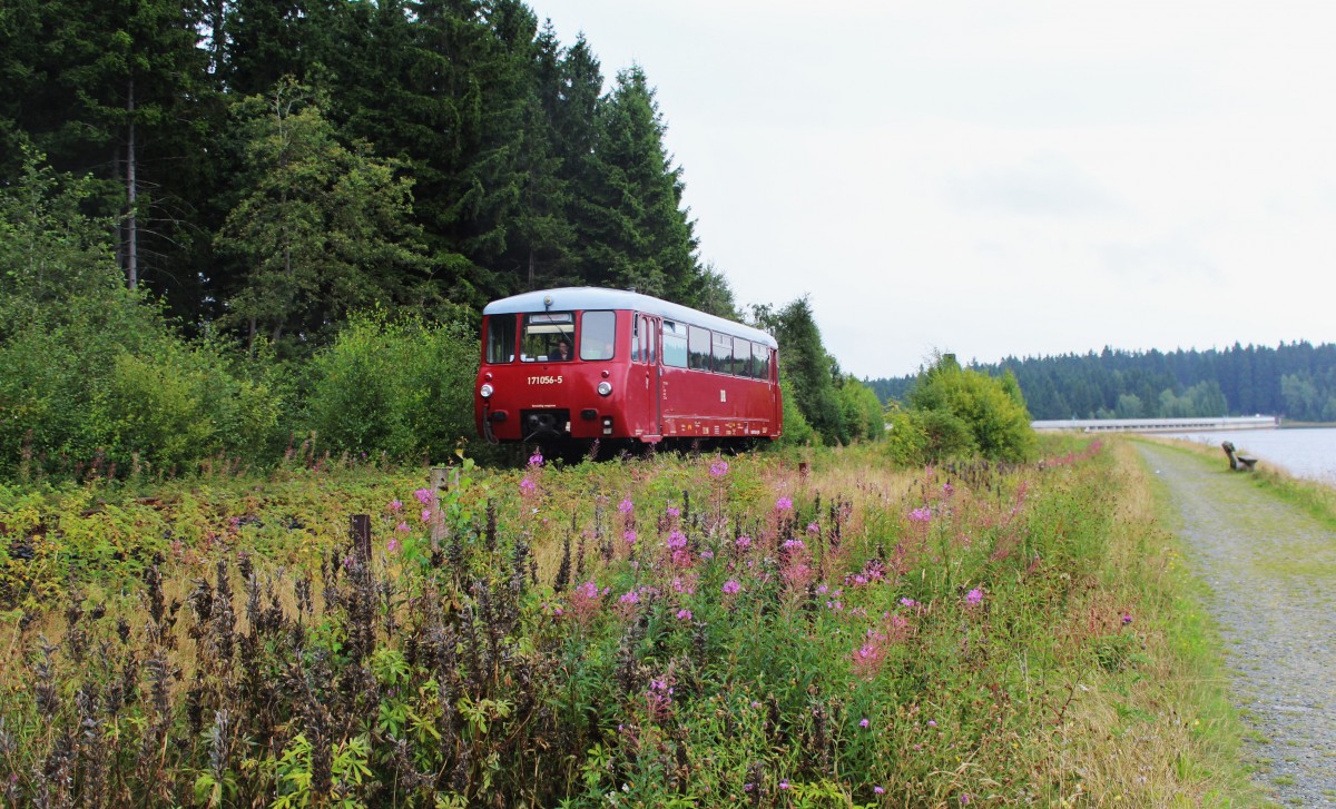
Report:
[[267,454],[278,400],[124,287],[83,195],[32,162],[0,190],[0,477]]

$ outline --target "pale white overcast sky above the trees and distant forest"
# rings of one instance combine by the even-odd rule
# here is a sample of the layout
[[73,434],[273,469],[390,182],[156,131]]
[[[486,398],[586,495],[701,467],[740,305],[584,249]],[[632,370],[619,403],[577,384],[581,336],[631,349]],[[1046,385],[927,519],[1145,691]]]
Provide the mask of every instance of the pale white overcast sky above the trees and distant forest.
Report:
[[1336,342],[1336,3],[530,5],[644,68],[701,260],[858,376]]

